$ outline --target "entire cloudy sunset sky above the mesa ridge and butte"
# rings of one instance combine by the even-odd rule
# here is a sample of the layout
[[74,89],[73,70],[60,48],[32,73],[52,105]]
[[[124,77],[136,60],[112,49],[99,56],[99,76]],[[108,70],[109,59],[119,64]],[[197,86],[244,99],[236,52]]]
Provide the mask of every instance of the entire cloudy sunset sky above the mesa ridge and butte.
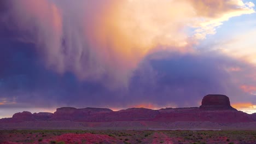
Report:
[[0,118],[57,107],[256,112],[256,1],[0,1]]

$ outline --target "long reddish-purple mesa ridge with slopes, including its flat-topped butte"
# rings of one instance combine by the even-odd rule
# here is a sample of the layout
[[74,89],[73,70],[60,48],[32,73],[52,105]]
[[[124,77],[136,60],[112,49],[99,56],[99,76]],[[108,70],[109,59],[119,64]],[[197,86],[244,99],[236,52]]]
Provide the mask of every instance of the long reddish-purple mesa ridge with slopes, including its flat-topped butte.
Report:
[[[249,115],[245,112],[237,111],[231,107],[229,98],[226,95],[206,95],[203,97],[200,107],[166,108],[160,110],[131,108],[120,111],[91,107],[84,109],[61,107],[54,113],[39,112],[33,114],[24,111],[15,113],[12,118],[0,119],[0,129],[6,128],[7,126],[4,125],[7,124],[9,125],[8,128],[26,128],[29,127],[28,125],[33,124],[35,129],[39,127],[49,128],[56,125],[59,125],[60,128],[72,128],[73,126],[76,128],[122,127],[122,125],[127,127],[134,127],[136,125],[136,127],[148,128],[155,125],[156,128],[160,128],[160,125],[170,125],[170,123],[177,122],[210,122],[221,125],[250,123],[249,125],[253,125],[252,128],[256,129],[255,114]],[[61,123],[66,124],[62,125]],[[199,126],[197,125],[197,127]]]

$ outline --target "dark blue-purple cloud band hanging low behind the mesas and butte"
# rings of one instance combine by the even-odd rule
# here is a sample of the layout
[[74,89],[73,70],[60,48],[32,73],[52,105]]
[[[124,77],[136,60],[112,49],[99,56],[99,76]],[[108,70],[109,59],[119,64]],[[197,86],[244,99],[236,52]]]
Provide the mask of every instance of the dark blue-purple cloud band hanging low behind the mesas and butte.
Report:
[[209,93],[226,94],[232,101],[252,100],[228,71],[235,65],[246,69],[236,74],[247,75],[252,67],[216,52],[155,52],[139,64],[128,87],[109,89],[105,82],[80,81],[73,73],[46,69],[32,44],[6,39],[0,43],[0,98],[16,102],[1,107],[199,106]]

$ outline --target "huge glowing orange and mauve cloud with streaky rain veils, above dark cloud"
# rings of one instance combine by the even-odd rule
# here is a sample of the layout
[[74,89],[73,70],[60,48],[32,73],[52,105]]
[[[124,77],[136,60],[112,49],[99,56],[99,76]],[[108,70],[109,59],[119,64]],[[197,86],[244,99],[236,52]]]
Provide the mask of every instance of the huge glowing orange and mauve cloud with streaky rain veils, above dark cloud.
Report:
[[[196,39],[216,33],[232,16],[254,13],[253,3],[218,1],[9,1],[8,16],[27,33],[50,69],[80,80],[127,86],[137,64],[156,47],[193,52]],[[189,28],[195,28],[189,34]],[[109,85],[111,82],[111,85]]]

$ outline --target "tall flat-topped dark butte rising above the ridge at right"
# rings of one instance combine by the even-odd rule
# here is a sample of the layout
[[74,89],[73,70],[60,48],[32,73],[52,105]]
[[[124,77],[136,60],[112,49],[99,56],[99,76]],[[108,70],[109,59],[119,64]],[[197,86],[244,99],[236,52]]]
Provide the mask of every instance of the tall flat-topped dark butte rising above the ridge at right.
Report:
[[229,101],[229,97],[222,94],[208,94],[202,99],[201,110],[234,110]]

